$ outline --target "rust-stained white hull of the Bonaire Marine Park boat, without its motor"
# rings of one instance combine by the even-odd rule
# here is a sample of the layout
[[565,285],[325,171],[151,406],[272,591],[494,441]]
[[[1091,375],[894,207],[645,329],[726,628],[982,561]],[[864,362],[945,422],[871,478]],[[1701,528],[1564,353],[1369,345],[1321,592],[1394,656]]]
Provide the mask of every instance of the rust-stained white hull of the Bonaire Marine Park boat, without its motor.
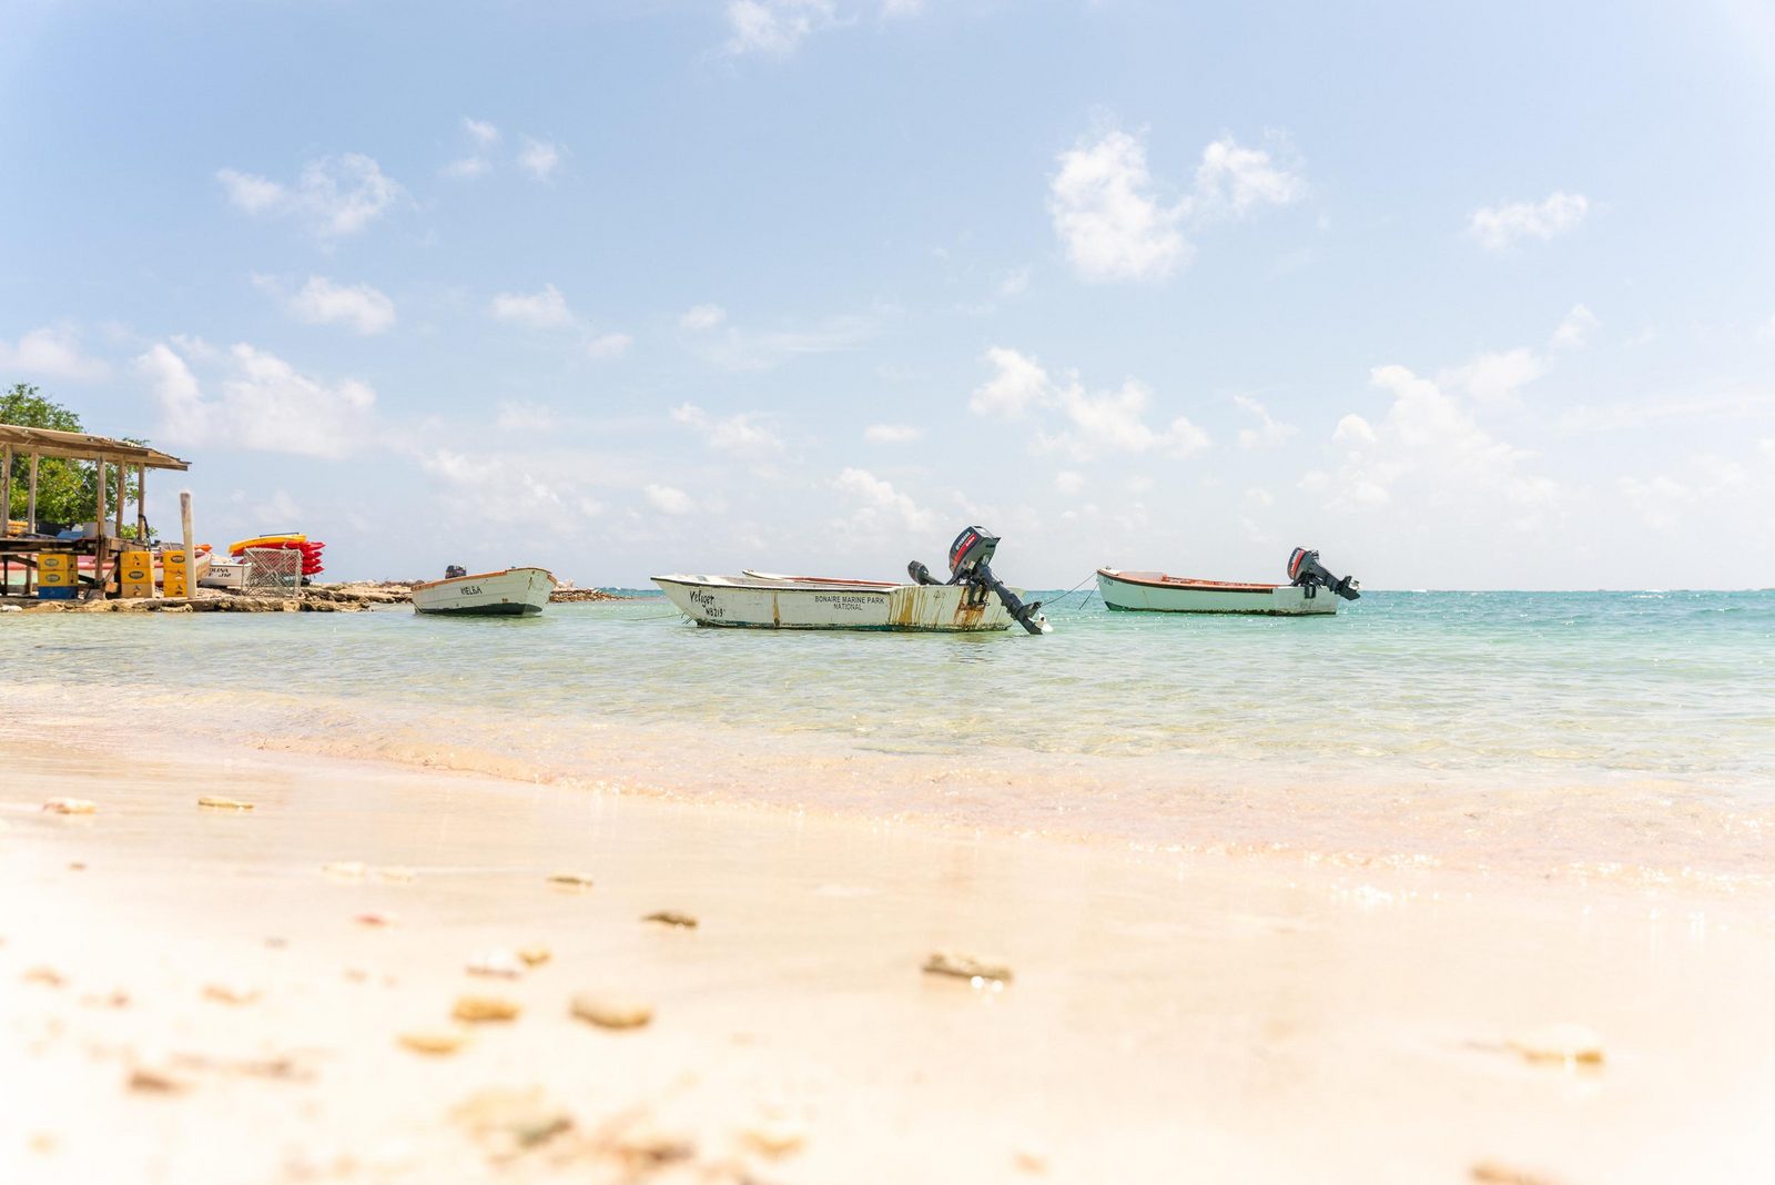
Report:
[[[653,577],[699,626],[989,633],[1012,624],[1005,603],[955,584],[875,584],[797,577]],[[1022,592],[1022,589],[1015,589]]]

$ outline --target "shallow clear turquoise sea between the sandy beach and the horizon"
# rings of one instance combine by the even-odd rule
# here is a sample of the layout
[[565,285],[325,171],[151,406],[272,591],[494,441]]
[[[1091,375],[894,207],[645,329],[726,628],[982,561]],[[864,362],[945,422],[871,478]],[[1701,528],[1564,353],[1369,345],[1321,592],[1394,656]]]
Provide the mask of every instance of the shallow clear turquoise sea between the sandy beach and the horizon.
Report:
[[1187,830],[1193,789],[1230,811],[1251,784],[1287,791],[1266,800],[1274,827],[1374,788],[1466,805],[1548,788],[1521,811],[1582,800],[1598,820],[1775,804],[1775,592],[1369,592],[1329,619],[1074,594],[1049,612],[1049,637],[705,630],[660,598],[515,621],[9,614],[0,671],[27,717],[57,688],[128,687],[160,729],[449,747],[550,779],[715,784],[742,761],[730,797],[863,784],[872,809],[941,814],[951,770],[990,770],[1010,789],[969,791],[955,818],[1028,825],[1030,804],[1079,798],[1081,828],[1156,843]]

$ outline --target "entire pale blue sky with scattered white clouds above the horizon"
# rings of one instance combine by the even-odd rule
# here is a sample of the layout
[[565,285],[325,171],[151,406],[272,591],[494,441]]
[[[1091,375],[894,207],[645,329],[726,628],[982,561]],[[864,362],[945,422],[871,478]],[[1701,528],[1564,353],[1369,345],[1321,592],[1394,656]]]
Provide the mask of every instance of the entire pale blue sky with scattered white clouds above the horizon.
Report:
[[341,577],[1770,585],[1771,78],[1724,0],[11,0],[0,381]]

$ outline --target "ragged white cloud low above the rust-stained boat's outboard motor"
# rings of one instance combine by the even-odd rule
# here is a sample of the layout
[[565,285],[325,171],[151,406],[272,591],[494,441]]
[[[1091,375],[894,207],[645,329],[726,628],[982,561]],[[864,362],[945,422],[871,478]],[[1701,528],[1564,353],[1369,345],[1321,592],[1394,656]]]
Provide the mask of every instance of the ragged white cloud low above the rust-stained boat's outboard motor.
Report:
[[1090,392],[1077,374],[1056,380],[1035,358],[1015,349],[992,348],[985,360],[996,373],[974,388],[969,410],[1005,420],[1042,412],[1044,422],[1035,429],[1040,452],[1063,451],[1088,461],[1104,452],[1189,456],[1209,445],[1207,433],[1182,415],[1163,429],[1148,426],[1152,388],[1140,380],[1129,378],[1116,390]]

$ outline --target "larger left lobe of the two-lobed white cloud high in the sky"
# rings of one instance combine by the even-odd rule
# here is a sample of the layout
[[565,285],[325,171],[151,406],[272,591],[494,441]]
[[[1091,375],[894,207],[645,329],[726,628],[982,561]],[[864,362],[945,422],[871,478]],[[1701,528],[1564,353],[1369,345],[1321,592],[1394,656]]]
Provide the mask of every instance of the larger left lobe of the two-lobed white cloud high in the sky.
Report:
[[1189,261],[1179,224],[1147,172],[1147,147],[1120,129],[1060,154],[1049,213],[1067,257],[1086,280],[1157,280]]

